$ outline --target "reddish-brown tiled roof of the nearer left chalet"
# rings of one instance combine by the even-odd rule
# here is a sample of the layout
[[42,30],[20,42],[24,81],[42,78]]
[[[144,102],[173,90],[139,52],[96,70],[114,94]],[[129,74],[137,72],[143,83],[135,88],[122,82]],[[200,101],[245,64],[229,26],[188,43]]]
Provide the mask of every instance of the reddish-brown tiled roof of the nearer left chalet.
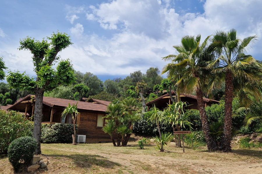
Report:
[[[26,100],[27,98],[31,98],[31,96],[35,96],[35,95],[27,95],[22,100],[15,103],[13,106],[19,104],[23,100]],[[95,104],[95,103],[81,102],[81,101],[68,100],[68,99],[59,99],[59,98],[53,98],[53,97],[44,97],[43,103],[51,107],[53,106],[67,107],[68,103],[70,103],[70,105],[77,104],[78,109],[95,110],[95,111],[103,111],[103,112],[107,110],[107,106],[103,104]],[[10,106],[9,108],[12,109],[12,106]]]

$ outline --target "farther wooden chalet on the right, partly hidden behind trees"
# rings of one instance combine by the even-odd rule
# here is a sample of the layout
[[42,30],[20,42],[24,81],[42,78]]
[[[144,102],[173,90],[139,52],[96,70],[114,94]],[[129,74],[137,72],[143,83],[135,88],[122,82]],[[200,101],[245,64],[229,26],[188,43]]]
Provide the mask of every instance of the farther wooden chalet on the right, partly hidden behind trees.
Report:
[[[175,92],[172,92],[172,96],[175,96]],[[187,102],[190,106],[188,106],[188,109],[198,109],[197,106],[197,96],[191,95],[191,94],[180,94],[180,101]],[[203,98],[205,102],[205,106],[211,106],[211,104],[217,104],[219,101],[211,100],[207,98]],[[146,103],[147,109],[149,110],[154,105],[159,108],[160,110],[164,110],[164,108],[167,107],[167,105],[172,104],[172,100],[170,99],[169,94],[162,95],[161,97],[158,97],[157,99],[152,100],[151,102]]]

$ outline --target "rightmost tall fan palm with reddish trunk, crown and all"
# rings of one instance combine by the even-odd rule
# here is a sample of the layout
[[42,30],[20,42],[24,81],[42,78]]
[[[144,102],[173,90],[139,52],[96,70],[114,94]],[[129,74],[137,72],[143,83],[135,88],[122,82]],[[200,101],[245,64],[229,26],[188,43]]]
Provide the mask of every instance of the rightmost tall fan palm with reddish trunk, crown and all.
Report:
[[[237,31],[215,32],[212,43],[216,45],[215,54],[217,59],[209,62],[208,67],[215,66],[214,72],[225,74],[225,117],[223,135],[220,146],[224,151],[231,151],[231,128],[232,128],[232,100],[234,81],[240,84],[248,81],[259,80],[254,71],[261,72],[261,64],[251,55],[246,55],[249,45],[254,43],[255,36],[246,37],[241,41]],[[239,83],[238,83],[239,84]],[[235,86],[236,87],[236,86]]]

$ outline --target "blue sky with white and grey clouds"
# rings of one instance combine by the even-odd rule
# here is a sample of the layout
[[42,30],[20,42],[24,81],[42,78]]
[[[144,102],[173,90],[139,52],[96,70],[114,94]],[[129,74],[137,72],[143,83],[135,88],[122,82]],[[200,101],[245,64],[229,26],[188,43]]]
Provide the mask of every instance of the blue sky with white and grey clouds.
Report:
[[32,55],[18,50],[26,36],[42,40],[65,32],[74,43],[59,52],[77,71],[101,80],[126,77],[168,62],[185,35],[235,28],[240,38],[257,35],[249,54],[262,60],[261,0],[1,0],[0,57],[8,70],[33,72]]

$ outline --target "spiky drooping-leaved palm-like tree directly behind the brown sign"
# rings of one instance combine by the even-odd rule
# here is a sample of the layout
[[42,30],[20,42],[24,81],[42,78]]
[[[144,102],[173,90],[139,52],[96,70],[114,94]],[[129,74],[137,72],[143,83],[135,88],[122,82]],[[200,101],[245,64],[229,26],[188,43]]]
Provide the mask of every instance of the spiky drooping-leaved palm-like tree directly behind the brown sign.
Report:
[[[164,120],[167,124],[172,125],[173,131],[175,130],[174,126],[176,126],[177,130],[180,131],[181,127],[185,128],[185,125],[190,126],[190,124],[192,124],[188,121],[188,116],[185,115],[184,113],[184,110],[186,109],[187,106],[189,105],[187,105],[186,102],[176,102],[168,105],[167,108],[165,108],[163,113]],[[174,137],[176,138],[175,132],[174,132]],[[180,134],[178,134],[178,142],[176,143],[178,147],[182,147]]]

